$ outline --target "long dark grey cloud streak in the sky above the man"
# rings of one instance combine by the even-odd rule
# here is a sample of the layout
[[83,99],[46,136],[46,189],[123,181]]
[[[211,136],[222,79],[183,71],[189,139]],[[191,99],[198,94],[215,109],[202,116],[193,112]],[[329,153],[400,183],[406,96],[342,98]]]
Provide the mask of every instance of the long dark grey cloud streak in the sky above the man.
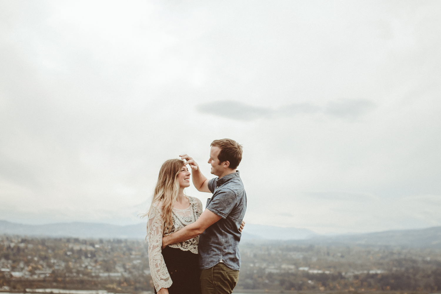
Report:
[[256,107],[233,100],[214,101],[197,106],[198,112],[217,115],[228,119],[251,121],[290,117],[298,114],[322,113],[325,115],[356,119],[375,108],[376,104],[366,99],[341,99],[328,102],[324,107],[312,103],[293,103],[274,109]]

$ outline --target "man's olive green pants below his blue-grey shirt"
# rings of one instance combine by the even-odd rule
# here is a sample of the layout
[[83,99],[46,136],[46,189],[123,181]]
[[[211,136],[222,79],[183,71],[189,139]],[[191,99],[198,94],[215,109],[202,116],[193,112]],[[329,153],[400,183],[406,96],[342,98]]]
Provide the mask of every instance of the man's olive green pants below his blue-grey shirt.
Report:
[[239,271],[220,262],[201,271],[202,294],[231,294],[239,279]]

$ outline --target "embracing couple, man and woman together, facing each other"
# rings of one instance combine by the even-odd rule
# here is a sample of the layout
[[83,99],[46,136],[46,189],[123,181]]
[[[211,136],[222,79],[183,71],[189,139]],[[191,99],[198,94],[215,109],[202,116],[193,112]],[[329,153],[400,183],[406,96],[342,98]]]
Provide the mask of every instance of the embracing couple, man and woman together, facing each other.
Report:
[[[242,146],[231,139],[211,143],[208,163],[217,176],[211,180],[190,156],[180,157],[162,164],[146,214],[155,293],[232,293],[239,279],[239,241],[247,209],[247,195],[236,171]],[[204,212],[198,198],[184,194],[190,175],[198,191],[213,194]]]

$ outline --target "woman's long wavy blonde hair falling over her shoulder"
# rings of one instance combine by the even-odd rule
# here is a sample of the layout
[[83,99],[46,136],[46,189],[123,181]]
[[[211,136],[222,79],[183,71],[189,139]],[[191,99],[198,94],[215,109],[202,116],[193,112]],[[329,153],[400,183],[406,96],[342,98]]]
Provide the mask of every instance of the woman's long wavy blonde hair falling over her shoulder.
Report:
[[177,175],[185,162],[180,159],[166,160],[159,170],[158,182],[153,192],[152,204],[149,211],[142,217],[149,216],[155,202],[162,200],[162,217],[164,220],[164,233],[171,231],[173,227],[172,209],[179,193],[179,180]]

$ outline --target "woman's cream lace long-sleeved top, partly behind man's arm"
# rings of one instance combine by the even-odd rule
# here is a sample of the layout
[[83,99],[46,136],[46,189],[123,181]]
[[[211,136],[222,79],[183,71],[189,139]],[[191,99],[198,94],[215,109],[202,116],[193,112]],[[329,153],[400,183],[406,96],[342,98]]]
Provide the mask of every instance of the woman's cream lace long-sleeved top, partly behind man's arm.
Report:
[[[202,202],[195,197],[187,196],[190,206],[186,209],[173,208],[173,227],[170,234],[179,231],[190,223],[194,223],[202,213]],[[147,236],[149,238],[149,265],[155,289],[169,288],[172,286],[172,279],[168,274],[164,257],[161,254],[162,237],[164,234],[164,220],[162,219],[162,201],[153,203],[147,223]],[[199,236],[176,244],[168,245],[172,248],[179,248],[183,251],[190,250],[198,254]]]

